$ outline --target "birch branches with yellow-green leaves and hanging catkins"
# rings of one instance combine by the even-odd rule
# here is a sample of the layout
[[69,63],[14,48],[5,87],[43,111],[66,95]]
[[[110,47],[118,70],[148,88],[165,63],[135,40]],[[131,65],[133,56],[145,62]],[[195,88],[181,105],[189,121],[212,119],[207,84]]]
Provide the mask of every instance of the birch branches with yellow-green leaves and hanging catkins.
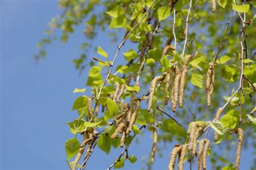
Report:
[[[136,162],[136,155],[125,153],[146,128],[153,134],[151,164],[159,142],[176,141],[168,169],[176,167],[176,159],[183,169],[196,154],[199,169],[206,168],[209,156],[212,169],[238,169],[242,147],[256,146],[255,5],[244,0],[59,1],[62,13],[49,23],[35,57],[46,55],[55,30],[62,30],[66,42],[85,23],[86,42],[79,47],[84,53],[73,63],[80,70],[90,67],[91,94],[73,91],[84,94],[72,106],[77,119],[68,123],[75,134],[65,144],[70,168],[84,169],[97,147],[106,154],[124,147],[109,169]],[[120,42],[115,56],[91,43],[98,31]],[[134,45],[122,51],[128,42]],[[87,56],[94,45],[98,56]],[[237,142],[236,150],[231,141]],[[220,147],[236,152],[235,162]]]

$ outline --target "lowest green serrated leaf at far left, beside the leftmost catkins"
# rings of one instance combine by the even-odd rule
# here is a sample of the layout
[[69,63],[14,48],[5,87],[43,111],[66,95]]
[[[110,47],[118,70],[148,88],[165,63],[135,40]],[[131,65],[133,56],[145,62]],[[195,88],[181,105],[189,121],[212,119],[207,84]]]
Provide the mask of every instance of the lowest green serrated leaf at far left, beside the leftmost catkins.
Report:
[[77,138],[68,139],[65,142],[65,150],[66,150],[66,156],[68,157],[68,160],[74,157],[80,148],[80,143],[77,140]]

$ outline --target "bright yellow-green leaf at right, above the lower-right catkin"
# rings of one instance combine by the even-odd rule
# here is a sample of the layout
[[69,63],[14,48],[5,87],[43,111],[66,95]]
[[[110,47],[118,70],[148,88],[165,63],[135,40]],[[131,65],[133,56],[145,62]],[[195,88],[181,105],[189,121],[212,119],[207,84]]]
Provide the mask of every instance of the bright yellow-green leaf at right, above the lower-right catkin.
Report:
[[223,123],[225,128],[234,129],[239,123],[239,113],[232,109],[223,115],[223,117],[220,119],[220,122]]

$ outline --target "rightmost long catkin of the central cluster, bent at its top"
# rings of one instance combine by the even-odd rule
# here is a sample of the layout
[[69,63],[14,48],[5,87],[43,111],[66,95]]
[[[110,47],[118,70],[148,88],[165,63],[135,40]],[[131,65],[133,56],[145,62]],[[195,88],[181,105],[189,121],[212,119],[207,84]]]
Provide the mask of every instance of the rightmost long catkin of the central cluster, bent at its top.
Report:
[[185,63],[183,65],[183,68],[180,71],[181,73],[180,73],[180,81],[179,81],[179,107],[183,106],[183,98],[184,98],[186,78],[187,78],[187,65],[192,58],[193,56],[191,55],[187,55],[185,57]]

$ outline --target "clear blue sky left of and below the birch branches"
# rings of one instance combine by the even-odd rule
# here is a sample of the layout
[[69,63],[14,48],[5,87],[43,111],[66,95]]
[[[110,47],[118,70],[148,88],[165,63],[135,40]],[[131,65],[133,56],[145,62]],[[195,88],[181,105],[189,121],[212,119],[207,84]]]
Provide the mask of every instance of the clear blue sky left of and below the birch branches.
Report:
[[[46,24],[59,13],[57,1],[0,0],[0,12],[0,169],[68,169],[64,143],[73,135],[65,123],[77,117],[70,108],[79,94],[72,91],[84,87],[88,72],[78,76],[71,62],[82,53],[77,48],[85,40],[82,28],[68,43],[57,41],[48,46],[46,59],[35,64],[36,44],[44,36]],[[100,36],[94,43],[113,56],[117,44],[109,43],[106,35]],[[88,56],[97,54],[92,50]],[[150,134],[146,133],[143,141],[131,145],[129,154],[136,155],[138,161],[125,161],[124,169],[145,167],[143,156],[151,150]],[[166,169],[173,146],[168,144],[163,149],[163,158],[156,159],[153,169]],[[112,149],[106,155],[96,147],[87,169],[106,169],[121,151]],[[252,151],[242,152],[241,169],[252,166],[252,158],[246,158],[251,154]]]

